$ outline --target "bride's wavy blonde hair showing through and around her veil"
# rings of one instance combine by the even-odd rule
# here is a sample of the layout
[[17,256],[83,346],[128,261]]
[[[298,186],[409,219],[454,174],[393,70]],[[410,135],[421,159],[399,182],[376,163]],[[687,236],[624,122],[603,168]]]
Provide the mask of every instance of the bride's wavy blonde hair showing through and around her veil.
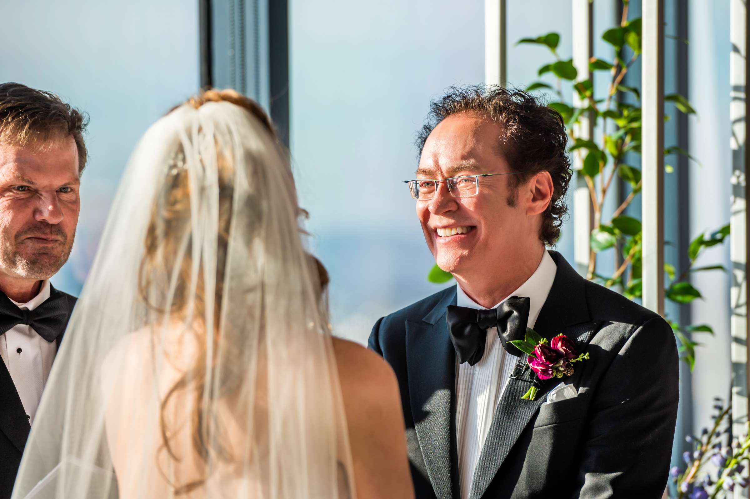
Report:
[[[260,105],[234,90],[205,90],[204,92],[201,92],[200,95],[188,99],[184,104],[198,109],[208,102],[229,102],[241,107],[257,119],[258,122],[263,125],[263,128],[265,128],[266,131],[278,141],[272,122]],[[170,113],[184,104],[173,108],[170,110]],[[219,148],[217,148],[217,150],[218,149]],[[177,152],[177,155],[179,154],[180,151]],[[172,168],[169,164],[165,164],[163,167],[165,169]],[[224,292],[223,283],[226,266],[226,251],[229,242],[229,227],[232,223],[233,179],[235,178],[235,165],[233,164],[232,158],[227,158],[226,155],[220,155],[219,158],[217,158],[217,167],[217,180],[219,186],[219,232],[217,242],[216,288],[214,295],[215,303],[213,306],[214,327],[210,328],[214,331],[214,342],[220,334],[219,315]],[[151,218],[148,223],[145,237],[145,253],[140,263],[138,276],[139,295],[148,308],[157,312],[157,314],[168,314],[170,317],[173,316],[183,319],[188,313],[188,296],[195,297],[193,314],[191,314],[194,323],[190,333],[196,335],[196,338],[199,340],[196,343],[201,350],[199,350],[198,354],[195,356],[196,362],[194,362],[190,368],[187,368],[179,380],[166,392],[163,401],[161,401],[160,432],[163,439],[163,449],[166,449],[166,452],[168,452],[172,459],[175,461],[179,460],[170,446],[172,428],[170,428],[169,422],[167,421],[166,406],[177,392],[181,392],[181,390],[189,390],[194,397],[194,406],[196,407],[196,410],[193,411],[192,417],[192,426],[194,428],[192,442],[196,455],[198,455],[204,462],[208,461],[210,455],[221,460],[229,461],[232,459],[232,456],[230,455],[227,446],[217,440],[212,440],[207,437],[209,428],[215,428],[216,421],[205,421],[205,417],[200,410],[200,401],[202,401],[205,390],[214,389],[214,387],[207,388],[205,386],[205,374],[208,370],[211,370],[213,366],[210,365],[211,362],[206,358],[206,340],[208,338],[205,338],[205,331],[208,328],[205,327],[205,324],[200,323],[203,320],[203,317],[205,317],[205,293],[202,291],[204,289],[202,270],[199,270],[197,286],[191,288],[190,280],[193,272],[193,262],[190,259],[190,247],[188,246],[187,251],[184,251],[184,257],[178,257],[178,254],[181,253],[181,242],[184,241],[184,236],[187,233],[190,233],[191,230],[190,182],[187,177],[187,170],[178,168],[175,170],[175,174],[164,176],[163,184],[157,189],[157,194],[151,207]],[[299,209],[299,206],[295,208],[300,215],[307,215],[305,210]],[[257,206],[247,206],[246,209],[257,209]],[[329,282],[328,273],[326,272],[325,267],[323,267],[323,264],[320,263],[317,258],[312,256],[310,258],[314,260],[314,265],[317,266],[318,276],[320,278],[320,293],[321,296],[323,296]],[[179,269],[172,268],[173,263],[176,261],[181,262]],[[169,290],[169,279],[174,272],[178,272],[178,282],[173,295],[167,296],[167,290]],[[194,293],[194,295],[190,293]],[[229,332],[226,332],[226,334],[229,334]],[[214,348],[214,352],[215,351],[216,349]],[[232,395],[236,388],[236,386],[234,386],[235,383],[236,382],[233,381],[229,374],[225,374],[224,372],[220,373],[217,387],[219,393],[217,395]],[[203,482],[205,482],[205,477],[185,484],[172,484],[172,486],[175,489],[175,494],[187,494],[202,485]]]

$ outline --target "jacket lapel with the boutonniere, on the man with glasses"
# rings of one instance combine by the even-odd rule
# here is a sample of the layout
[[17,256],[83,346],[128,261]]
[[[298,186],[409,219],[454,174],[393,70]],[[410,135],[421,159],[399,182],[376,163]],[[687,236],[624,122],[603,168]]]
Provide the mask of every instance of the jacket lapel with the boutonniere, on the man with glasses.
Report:
[[[595,323],[590,322],[585,296],[586,281],[556,251],[550,251],[550,255],[555,260],[557,272],[534,330],[547,339],[563,333],[568,335],[568,338],[575,338],[580,347],[583,347],[591,340],[597,327]],[[521,357],[520,362],[526,364],[525,355]],[[528,368],[520,377],[508,380],[477,461],[469,499],[480,499],[487,491],[523,428],[526,428],[529,420],[546,400],[547,392],[556,386],[559,380],[547,380],[542,383],[533,401],[522,400],[521,397],[529,389],[531,382],[532,371]]]

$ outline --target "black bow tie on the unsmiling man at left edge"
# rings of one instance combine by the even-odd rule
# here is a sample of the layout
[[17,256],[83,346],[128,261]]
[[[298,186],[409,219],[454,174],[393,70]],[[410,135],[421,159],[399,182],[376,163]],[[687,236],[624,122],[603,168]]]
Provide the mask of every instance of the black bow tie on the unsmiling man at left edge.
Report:
[[49,298],[34,310],[21,310],[4,293],[0,293],[0,335],[18,324],[26,324],[52,343],[68,326],[69,314],[68,299],[57,290],[52,290]]

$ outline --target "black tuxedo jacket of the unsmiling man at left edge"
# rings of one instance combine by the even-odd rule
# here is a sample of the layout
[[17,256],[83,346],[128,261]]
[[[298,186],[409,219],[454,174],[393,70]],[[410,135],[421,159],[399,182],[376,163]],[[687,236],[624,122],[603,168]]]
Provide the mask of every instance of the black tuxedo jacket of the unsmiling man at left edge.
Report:
[[[68,320],[70,320],[76,298],[55,290],[52,284],[49,288],[50,296],[54,293],[62,293],[68,299]],[[57,337],[58,348],[62,336],[61,334]],[[10,499],[10,492],[13,491],[13,482],[16,481],[16,473],[21,464],[21,455],[23,455],[23,447],[26,446],[29,430],[31,430],[31,425],[28,424],[26,410],[23,409],[5,362],[0,360],[0,499]]]

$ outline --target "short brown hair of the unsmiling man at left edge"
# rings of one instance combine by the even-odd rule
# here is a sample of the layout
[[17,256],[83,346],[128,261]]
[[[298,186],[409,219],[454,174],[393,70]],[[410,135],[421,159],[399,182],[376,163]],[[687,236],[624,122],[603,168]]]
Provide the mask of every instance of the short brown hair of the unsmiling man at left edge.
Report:
[[52,92],[31,89],[21,83],[0,83],[0,143],[45,149],[60,139],[73,137],[80,175],[89,156],[83,140],[87,125],[86,113]]

